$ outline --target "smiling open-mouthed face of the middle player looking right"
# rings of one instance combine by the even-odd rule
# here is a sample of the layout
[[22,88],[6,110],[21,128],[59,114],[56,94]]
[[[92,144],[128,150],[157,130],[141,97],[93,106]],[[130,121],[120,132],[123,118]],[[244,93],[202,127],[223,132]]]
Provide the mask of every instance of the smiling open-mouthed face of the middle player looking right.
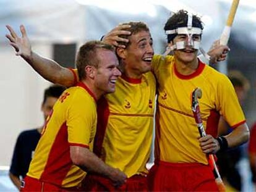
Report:
[[151,70],[154,55],[153,40],[149,31],[139,31],[129,37],[129,46],[123,50],[121,58],[125,70],[137,75]]

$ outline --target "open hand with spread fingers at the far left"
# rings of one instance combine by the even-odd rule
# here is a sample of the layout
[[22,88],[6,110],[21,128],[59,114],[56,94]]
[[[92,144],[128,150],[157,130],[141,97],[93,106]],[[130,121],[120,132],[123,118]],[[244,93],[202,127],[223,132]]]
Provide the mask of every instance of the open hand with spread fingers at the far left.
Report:
[[22,56],[24,59],[30,57],[32,52],[31,44],[28,40],[25,27],[20,25],[20,32],[22,33],[22,36],[18,36],[10,25],[6,25],[6,28],[10,32],[10,34],[6,35],[6,38],[10,41],[11,46],[15,49],[16,56]]

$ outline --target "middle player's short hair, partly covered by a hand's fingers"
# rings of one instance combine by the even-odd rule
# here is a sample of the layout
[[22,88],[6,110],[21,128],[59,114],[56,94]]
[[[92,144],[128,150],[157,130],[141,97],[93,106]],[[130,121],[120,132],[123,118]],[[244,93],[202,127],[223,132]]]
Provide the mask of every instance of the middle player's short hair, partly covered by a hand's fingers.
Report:
[[[130,36],[139,33],[140,31],[150,31],[147,24],[143,22],[127,22],[121,23],[121,25],[130,25],[130,28],[125,28],[124,30],[130,31],[130,35],[120,35],[121,38],[129,39]],[[119,44],[123,44],[126,48],[130,45],[130,41],[128,43],[118,41]]]

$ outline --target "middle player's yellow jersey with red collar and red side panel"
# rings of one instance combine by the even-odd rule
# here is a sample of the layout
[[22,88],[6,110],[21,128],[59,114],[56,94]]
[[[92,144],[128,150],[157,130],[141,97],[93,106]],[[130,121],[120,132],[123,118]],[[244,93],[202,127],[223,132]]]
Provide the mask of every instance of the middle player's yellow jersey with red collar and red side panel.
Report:
[[[77,71],[74,70],[77,74]],[[116,91],[98,101],[93,151],[128,177],[147,173],[153,135],[156,83],[153,73],[116,81]]]

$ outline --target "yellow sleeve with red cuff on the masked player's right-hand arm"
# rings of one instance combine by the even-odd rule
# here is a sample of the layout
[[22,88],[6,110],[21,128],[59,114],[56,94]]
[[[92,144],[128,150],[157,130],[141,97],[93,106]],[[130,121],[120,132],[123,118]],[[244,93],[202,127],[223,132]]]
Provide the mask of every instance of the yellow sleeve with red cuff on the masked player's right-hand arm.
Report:
[[245,123],[244,112],[237,99],[236,91],[226,75],[221,74],[217,87],[216,107],[232,128]]

